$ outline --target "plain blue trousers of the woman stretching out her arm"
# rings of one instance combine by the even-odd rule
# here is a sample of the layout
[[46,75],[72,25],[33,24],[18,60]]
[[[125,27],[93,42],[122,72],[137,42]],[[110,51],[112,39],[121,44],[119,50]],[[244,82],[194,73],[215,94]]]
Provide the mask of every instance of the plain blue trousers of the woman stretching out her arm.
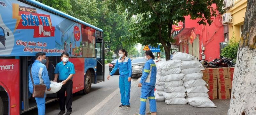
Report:
[[123,105],[130,105],[131,82],[128,82],[128,76],[119,76],[119,89],[121,103]]

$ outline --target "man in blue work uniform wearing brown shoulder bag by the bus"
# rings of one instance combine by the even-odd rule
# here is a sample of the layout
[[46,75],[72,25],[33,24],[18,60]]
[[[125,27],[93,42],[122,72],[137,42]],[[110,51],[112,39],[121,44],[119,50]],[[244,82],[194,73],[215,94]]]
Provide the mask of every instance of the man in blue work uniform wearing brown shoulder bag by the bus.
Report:
[[[30,77],[30,66],[32,66],[31,74],[32,74],[34,84],[35,85],[45,84],[46,89],[48,91],[51,90],[50,79],[48,76],[46,66],[44,65],[46,63],[45,58],[46,58],[45,53],[39,52],[36,54],[35,62],[28,66],[29,95],[31,95],[33,93],[33,84],[32,84],[31,77]],[[35,99],[36,99],[36,104],[37,104],[38,115],[44,115],[44,113],[45,113],[45,96],[44,97],[35,97]]]

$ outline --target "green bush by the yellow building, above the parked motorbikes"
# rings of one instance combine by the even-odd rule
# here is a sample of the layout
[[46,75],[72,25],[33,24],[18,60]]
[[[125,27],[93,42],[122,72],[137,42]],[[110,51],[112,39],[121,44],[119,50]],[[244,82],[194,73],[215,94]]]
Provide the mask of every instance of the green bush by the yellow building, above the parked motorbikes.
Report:
[[229,40],[228,46],[221,49],[222,52],[220,55],[226,58],[236,59],[238,47],[239,43],[238,41],[236,41],[235,33],[233,32],[232,38]]

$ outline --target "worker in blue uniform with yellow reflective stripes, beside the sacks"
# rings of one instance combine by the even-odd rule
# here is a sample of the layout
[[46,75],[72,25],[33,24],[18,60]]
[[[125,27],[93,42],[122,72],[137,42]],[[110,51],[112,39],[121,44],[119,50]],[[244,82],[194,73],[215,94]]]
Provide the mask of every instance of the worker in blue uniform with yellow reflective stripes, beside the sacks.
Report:
[[156,84],[156,64],[153,61],[155,56],[152,51],[148,50],[145,52],[145,60],[147,61],[144,65],[142,76],[138,87],[141,87],[140,95],[140,112],[136,115],[145,115],[146,111],[146,100],[149,100],[149,115],[156,115],[156,99],[154,95],[154,89]]

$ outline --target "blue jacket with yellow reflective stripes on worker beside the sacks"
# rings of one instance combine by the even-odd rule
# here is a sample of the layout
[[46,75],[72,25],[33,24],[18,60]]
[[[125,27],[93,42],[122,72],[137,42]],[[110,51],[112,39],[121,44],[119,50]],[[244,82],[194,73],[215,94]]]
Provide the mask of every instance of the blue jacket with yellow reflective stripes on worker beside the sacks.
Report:
[[154,86],[156,84],[156,64],[153,59],[150,59],[145,63],[140,83],[150,86]]

